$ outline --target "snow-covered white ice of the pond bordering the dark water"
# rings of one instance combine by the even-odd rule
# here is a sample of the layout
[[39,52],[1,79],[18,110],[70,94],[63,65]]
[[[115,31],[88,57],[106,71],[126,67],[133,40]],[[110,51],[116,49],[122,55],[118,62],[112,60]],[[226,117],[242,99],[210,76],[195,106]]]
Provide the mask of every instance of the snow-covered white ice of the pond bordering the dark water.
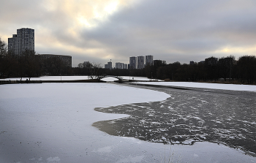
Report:
[[[149,138],[145,141],[138,139],[139,137],[134,138],[136,135],[116,136],[95,127],[95,123],[100,121],[118,124],[118,121],[123,120],[122,118],[129,119],[133,114],[127,113],[129,110],[124,110],[122,112],[124,114],[101,113],[94,110],[96,107],[116,112],[109,108],[132,106],[130,107],[132,110],[142,108],[144,111],[154,104],[163,110],[165,107],[171,110],[167,106],[168,100],[182,99],[181,96],[181,92],[164,93],[162,90],[154,91],[109,83],[0,85],[0,162],[169,162],[169,160],[171,162],[256,162],[254,156],[230,148],[228,143],[227,145],[198,141],[193,145],[152,143]],[[188,97],[189,95],[185,98]],[[204,99],[198,100],[202,105],[206,105],[203,103]],[[211,100],[206,102],[209,101]],[[182,102],[187,105],[182,100],[173,103],[172,108],[178,107],[183,110],[180,114],[174,110],[173,115],[185,121],[186,110]],[[199,107],[197,104],[191,103],[191,105]],[[157,112],[153,114],[157,108],[152,109],[145,113],[146,117],[159,114]],[[135,114],[137,115],[136,112]],[[200,115],[189,114],[200,118]],[[140,115],[137,116],[141,118]],[[165,117],[166,115],[162,115],[162,118]],[[191,117],[187,117],[189,118]],[[113,121],[115,119],[118,120]],[[138,121],[136,118],[134,120],[134,124],[137,125]],[[195,121],[197,120],[195,118]],[[160,121],[162,119],[159,117],[159,121],[153,121],[154,123],[151,124],[157,126]],[[247,121],[251,123],[251,120]],[[149,120],[144,118],[140,124],[148,124],[148,122]],[[175,123],[173,121],[173,125],[176,125]],[[241,122],[241,124],[246,123],[246,121]],[[131,123],[122,125],[131,126]],[[116,130],[124,132],[120,125]],[[162,129],[162,133],[165,133],[165,129]],[[203,137],[203,134],[201,136]],[[169,137],[161,138],[169,139]],[[190,138],[193,140],[195,137]],[[171,137],[169,140],[172,140]]]

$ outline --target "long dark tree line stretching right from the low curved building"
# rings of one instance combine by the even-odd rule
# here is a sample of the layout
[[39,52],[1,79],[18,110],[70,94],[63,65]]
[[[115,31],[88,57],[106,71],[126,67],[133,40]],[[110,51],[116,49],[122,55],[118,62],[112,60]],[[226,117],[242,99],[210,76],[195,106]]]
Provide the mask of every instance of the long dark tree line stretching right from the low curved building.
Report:
[[153,65],[147,64],[144,69],[102,69],[100,64],[84,61],[73,72],[74,75],[89,75],[91,78],[105,74],[176,81],[232,80],[252,84],[256,83],[256,57],[241,56],[238,60],[234,56],[210,57],[193,64],[181,64],[178,61],[166,64],[166,61],[155,60]]

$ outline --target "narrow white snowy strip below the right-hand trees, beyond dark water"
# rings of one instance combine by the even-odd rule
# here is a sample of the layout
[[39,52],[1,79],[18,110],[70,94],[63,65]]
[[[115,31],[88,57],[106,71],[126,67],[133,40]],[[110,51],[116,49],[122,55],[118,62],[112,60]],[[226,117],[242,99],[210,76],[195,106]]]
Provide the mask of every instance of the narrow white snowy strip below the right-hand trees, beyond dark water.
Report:
[[256,86],[236,85],[236,84],[217,84],[217,83],[194,83],[194,82],[138,82],[139,84],[151,84],[159,86],[181,86],[191,88],[211,88],[233,91],[256,91]]

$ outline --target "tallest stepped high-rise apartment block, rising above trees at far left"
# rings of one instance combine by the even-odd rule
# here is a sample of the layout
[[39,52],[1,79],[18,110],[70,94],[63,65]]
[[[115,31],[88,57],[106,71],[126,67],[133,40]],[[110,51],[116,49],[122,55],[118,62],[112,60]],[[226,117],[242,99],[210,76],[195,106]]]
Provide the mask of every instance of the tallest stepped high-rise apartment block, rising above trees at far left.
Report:
[[17,29],[17,34],[8,38],[8,51],[14,55],[21,55],[26,50],[34,51],[34,29]]

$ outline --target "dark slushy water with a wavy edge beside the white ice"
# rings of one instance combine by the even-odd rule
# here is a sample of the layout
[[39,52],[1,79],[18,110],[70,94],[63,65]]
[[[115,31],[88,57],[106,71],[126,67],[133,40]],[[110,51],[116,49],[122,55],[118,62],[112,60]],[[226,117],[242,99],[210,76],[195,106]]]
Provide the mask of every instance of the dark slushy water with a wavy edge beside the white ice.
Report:
[[130,116],[98,121],[93,126],[111,135],[148,142],[222,143],[256,156],[256,92],[136,87],[163,91],[170,98],[162,102],[95,108],[103,113]]

